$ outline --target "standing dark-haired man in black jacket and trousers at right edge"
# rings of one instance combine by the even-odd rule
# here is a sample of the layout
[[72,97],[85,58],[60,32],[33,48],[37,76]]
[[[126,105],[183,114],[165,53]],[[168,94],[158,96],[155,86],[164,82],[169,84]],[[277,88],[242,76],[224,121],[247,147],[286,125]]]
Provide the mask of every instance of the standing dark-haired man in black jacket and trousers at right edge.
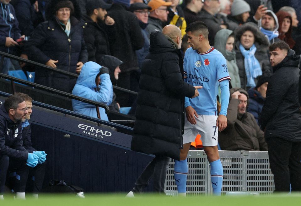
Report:
[[265,131],[275,191],[301,191],[300,55],[283,41],[270,45],[273,75],[258,123]]

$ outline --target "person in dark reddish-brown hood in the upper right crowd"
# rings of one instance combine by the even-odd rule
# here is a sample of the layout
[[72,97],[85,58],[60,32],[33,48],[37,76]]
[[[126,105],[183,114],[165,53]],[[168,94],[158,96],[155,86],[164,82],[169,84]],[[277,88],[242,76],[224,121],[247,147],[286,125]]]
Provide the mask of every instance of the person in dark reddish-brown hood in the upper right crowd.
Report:
[[288,43],[288,46],[292,49],[296,43],[292,38],[292,16],[285,11],[278,11],[276,16],[279,22],[278,38]]

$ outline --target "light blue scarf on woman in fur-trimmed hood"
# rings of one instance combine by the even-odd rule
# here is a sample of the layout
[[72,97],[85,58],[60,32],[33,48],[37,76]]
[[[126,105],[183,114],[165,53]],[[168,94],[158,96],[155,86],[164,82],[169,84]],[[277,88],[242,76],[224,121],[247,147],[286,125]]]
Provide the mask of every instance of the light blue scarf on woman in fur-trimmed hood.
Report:
[[254,78],[262,75],[261,66],[258,60],[255,58],[256,52],[255,44],[252,45],[250,50],[246,50],[243,45],[239,44],[239,50],[245,57],[245,72],[247,76],[247,86],[256,86]]

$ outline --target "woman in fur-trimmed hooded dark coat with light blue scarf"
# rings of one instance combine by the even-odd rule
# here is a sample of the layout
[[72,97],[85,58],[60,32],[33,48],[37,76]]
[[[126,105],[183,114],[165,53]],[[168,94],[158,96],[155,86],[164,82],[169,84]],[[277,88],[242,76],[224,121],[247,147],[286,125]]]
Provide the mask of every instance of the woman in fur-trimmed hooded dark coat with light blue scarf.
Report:
[[258,76],[270,76],[272,73],[268,56],[269,41],[252,22],[239,26],[234,33],[240,84],[241,88],[248,90],[256,86]]

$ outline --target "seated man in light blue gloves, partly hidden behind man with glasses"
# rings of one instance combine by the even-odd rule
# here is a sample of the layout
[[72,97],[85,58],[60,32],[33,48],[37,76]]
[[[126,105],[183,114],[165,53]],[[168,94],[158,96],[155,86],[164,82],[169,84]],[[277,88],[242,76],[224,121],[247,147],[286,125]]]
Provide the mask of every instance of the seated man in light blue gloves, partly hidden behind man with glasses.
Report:
[[15,93],[19,95],[26,104],[27,114],[25,119],[22,119],[22,139],[24,148],[29,152],[37,155],[39,157],[38,164],[34,168],[30,169],[29,177],[33,181],[33,197],[37,198],[38,193],[41,191],[44,181],[45,169],[46,169],[46,156],[47,154],[44,151],[37,151],[33,148],[31,143],[31,126],[30,126],[30,115],[32,114],[32,98],[27,94]]

